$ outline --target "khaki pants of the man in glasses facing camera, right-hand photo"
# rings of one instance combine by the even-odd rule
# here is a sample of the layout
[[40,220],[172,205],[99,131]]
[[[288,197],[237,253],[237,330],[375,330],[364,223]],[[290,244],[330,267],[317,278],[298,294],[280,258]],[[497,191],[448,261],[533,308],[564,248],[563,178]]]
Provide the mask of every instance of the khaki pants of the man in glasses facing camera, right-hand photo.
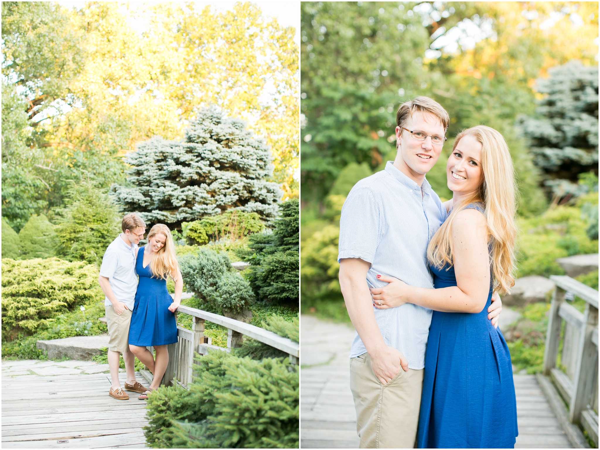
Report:
[[350,359],[350,390],[361,448],[415,448],[425,370],[400,370],[382,384],[368,353]]

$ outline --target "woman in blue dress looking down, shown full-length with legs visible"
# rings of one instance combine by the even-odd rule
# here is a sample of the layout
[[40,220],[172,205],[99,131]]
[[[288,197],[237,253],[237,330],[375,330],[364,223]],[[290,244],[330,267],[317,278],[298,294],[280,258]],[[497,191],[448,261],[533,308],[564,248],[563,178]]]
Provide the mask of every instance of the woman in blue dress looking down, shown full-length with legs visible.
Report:
[[[154,375],[148,390],[138,397],[145,400],[158,388],[167,370],[167,345],[177,342],[175,311],[181,303],[183,281],[169,227],[164,224],[152,227],[148,244],[137,250],[136,272],[139,283],[131,313],[129,349]],[[175,299],[171,299],[167,290],[167,277],[175,281]],[[149,346],[154,347],[156,359],[146,348]]]

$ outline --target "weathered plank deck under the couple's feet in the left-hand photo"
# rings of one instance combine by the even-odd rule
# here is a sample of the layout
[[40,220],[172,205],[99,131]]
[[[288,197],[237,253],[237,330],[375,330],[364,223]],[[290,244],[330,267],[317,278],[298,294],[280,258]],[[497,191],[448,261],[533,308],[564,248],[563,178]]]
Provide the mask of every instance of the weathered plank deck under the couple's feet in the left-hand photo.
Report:
[[[136,392],[110,397],[107,376],[4,373],[2,448],[145,448],[146,402]],[[119,378],[122,386],[125,374]]]

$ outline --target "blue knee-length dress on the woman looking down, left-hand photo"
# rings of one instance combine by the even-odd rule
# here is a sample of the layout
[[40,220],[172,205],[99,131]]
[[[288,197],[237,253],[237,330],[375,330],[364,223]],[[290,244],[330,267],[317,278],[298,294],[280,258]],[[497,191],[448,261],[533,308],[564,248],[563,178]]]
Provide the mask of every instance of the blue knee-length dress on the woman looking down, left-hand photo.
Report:
[[136,302],[131,313],[129,343],[134,346],[162,346],[177,342],[175,313],[169,311],[173,300],[167,290],[167,280],[152,278],[150,264],[143,266],[145,247],[137,253]]

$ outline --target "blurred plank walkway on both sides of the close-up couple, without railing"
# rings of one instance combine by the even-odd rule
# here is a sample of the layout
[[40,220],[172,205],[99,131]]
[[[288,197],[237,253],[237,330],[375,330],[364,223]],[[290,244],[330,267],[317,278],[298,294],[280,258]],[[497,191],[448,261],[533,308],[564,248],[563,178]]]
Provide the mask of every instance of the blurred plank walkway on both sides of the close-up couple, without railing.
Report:
[[[301,448],[358,448],[350,392],[350,326],[302,316]],[[572,448],[533,375],[514,375],[519,436],[515,448]]]

